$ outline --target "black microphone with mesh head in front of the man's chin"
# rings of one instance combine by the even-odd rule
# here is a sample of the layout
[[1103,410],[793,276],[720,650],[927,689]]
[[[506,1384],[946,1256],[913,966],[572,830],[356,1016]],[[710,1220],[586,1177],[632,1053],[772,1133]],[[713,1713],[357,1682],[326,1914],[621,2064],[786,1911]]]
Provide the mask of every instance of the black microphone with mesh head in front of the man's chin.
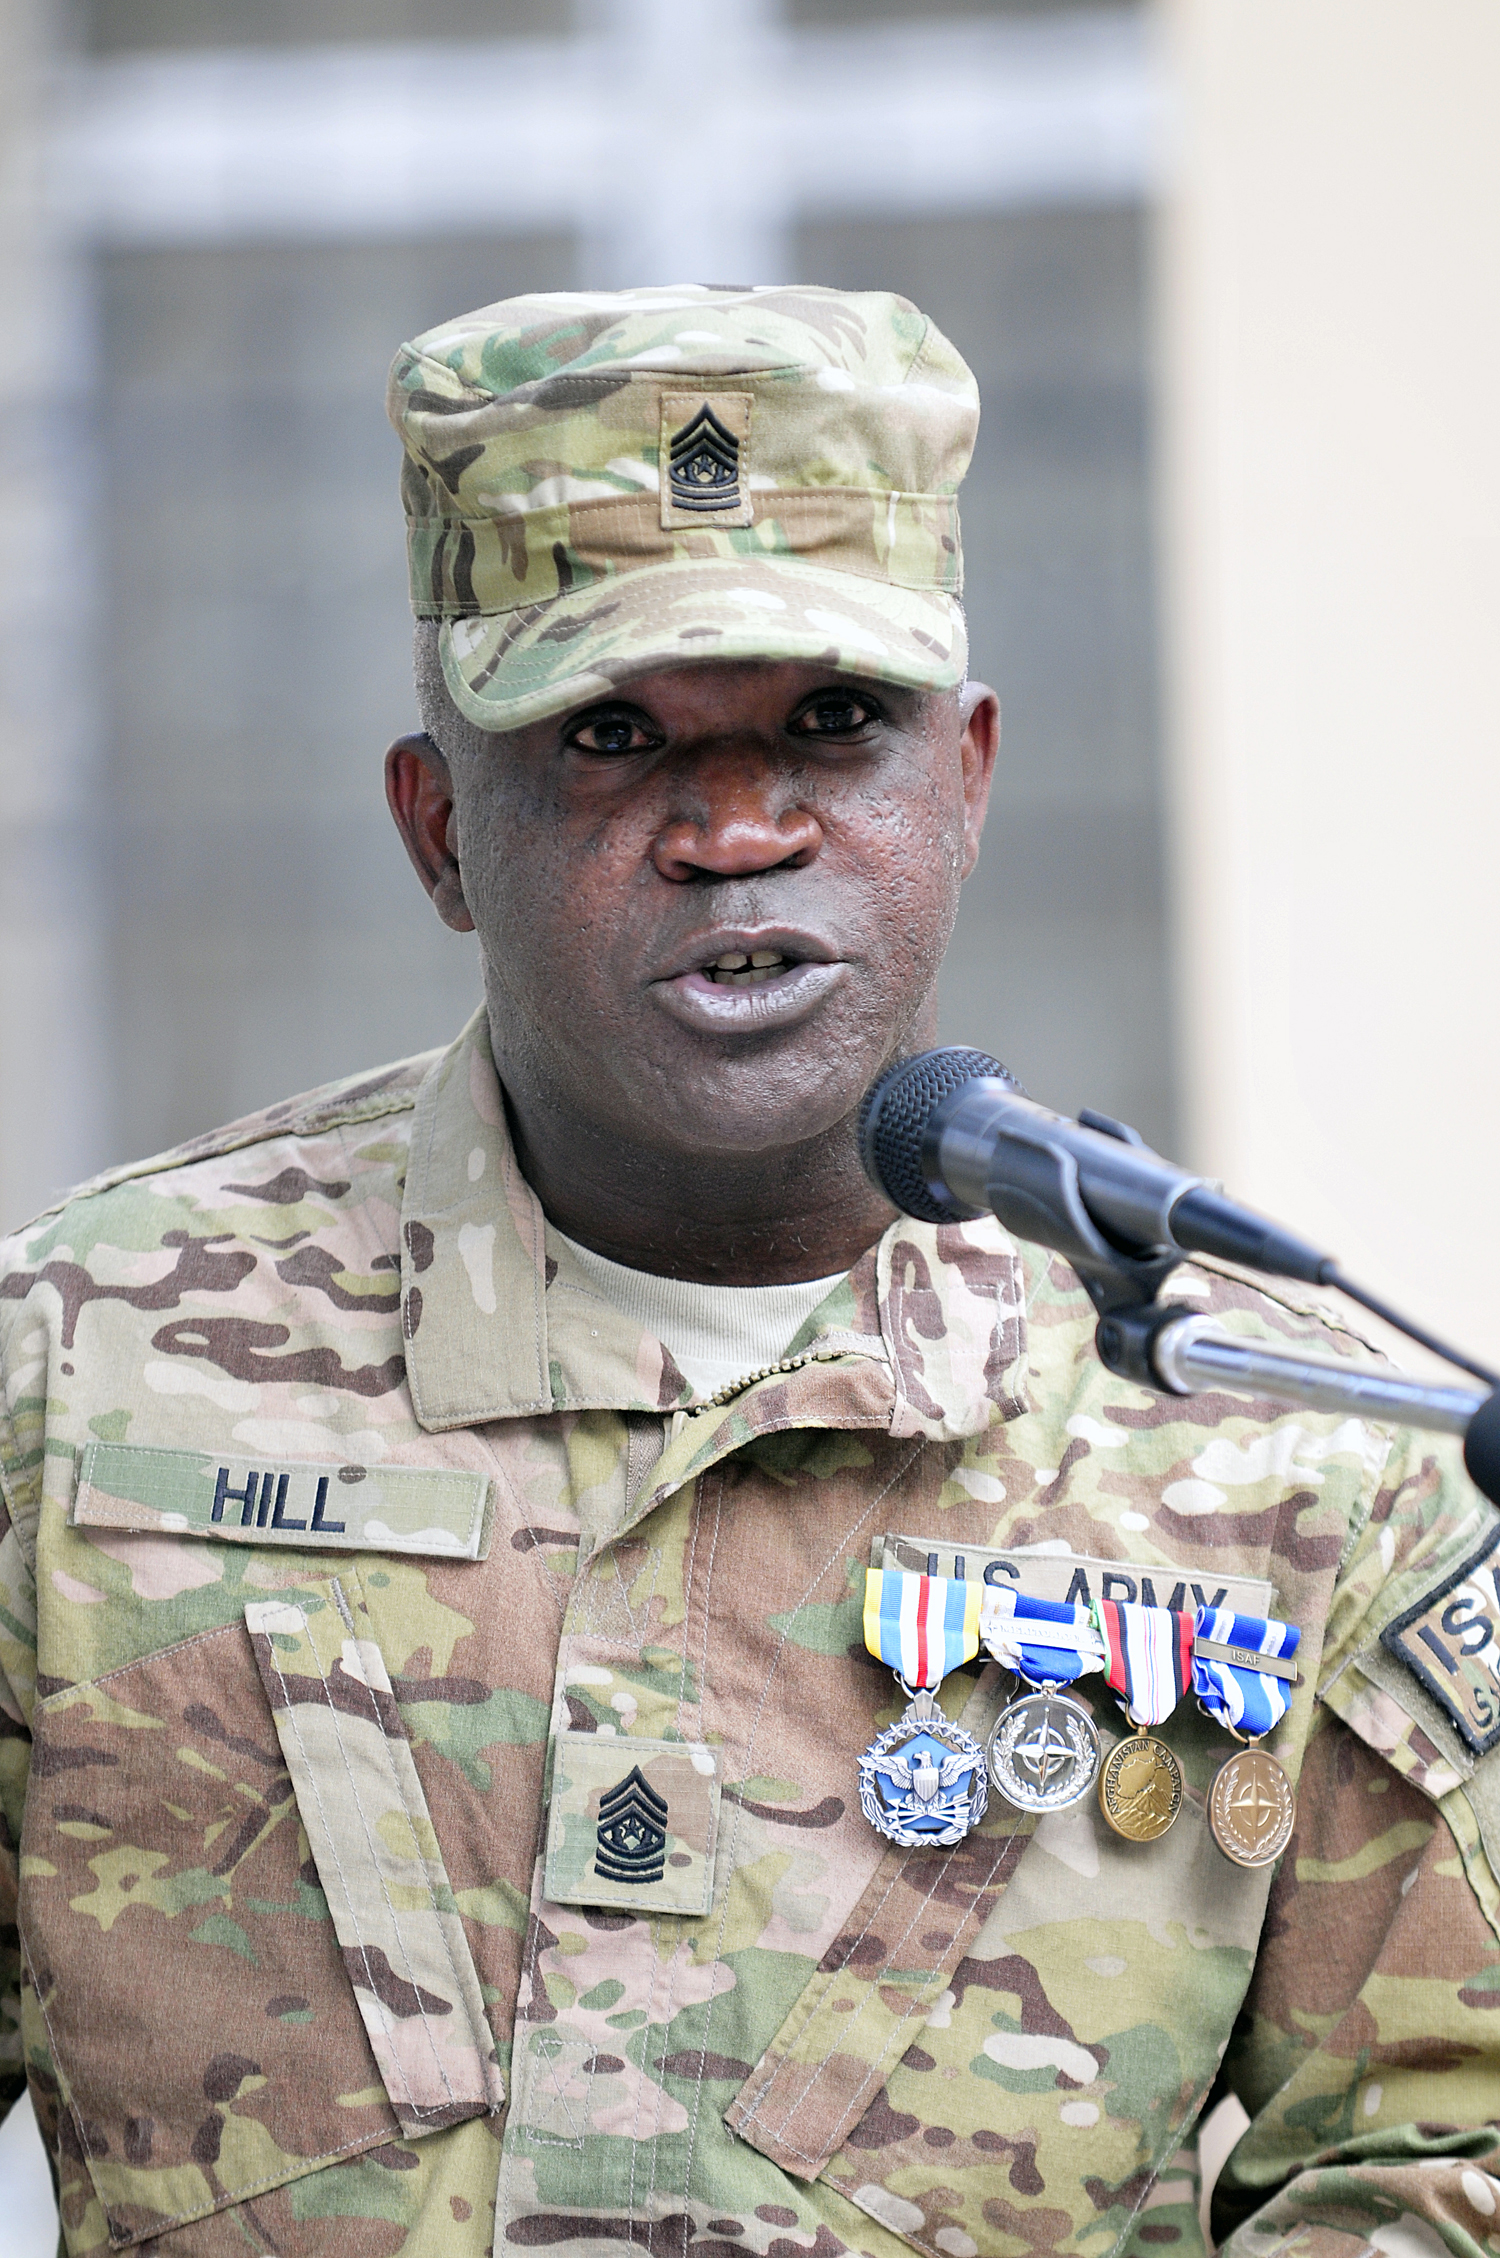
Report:
[[992,1213],[1082,1274],[1204,1253],[1308,1285],[1337,1278],[1333,1255],[1163,1161],[1123,1122],[1039,1106],[983,1050],[890,1066],[861,1106],[858,1152],[906,1215],[958,1224]]

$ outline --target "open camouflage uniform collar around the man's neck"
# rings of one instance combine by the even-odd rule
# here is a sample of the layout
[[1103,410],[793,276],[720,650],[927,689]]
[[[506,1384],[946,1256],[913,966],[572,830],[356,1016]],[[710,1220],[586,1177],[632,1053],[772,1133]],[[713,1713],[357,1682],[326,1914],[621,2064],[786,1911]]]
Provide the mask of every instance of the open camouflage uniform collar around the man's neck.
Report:
[[[402,1330],[411,1400],[429,1432],[608,1409],[673,1414],[675,1429],[687,1420],[707,1443],[775,1391],[777,1427],[843,1425],[847,1395],[849,1425],[942,1441],[1026,1409],[1021,1260],[989,1217],[951,1226],[901,1217],[813,1312],[795,1371],[727,1400],[694,1398],[662,1344],[605,1303],[549,1231],[515,1163],[483,1007],[416,1097]],[[689,1434],[680,1441],[687,1447]]]

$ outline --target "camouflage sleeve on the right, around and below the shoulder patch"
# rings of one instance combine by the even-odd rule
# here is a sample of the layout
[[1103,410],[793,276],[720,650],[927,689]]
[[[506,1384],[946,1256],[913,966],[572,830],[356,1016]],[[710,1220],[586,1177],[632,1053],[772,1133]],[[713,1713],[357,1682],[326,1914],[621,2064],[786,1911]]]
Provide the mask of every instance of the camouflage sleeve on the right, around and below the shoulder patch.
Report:
[[[1220,2075],[1249,2113],[1213,2197],[1231,2258],[1500,2251],[1500,1750],[1466,1745],[1383,1637],[1432,1601],[1441,1621],[1464,1583],[1475,1648],[1471,1572],[1495,1535],[1457,1454],[1414,1438],[1351,1544],[1297,1833]],[[1500,1642],[1500,1592],[1491,1612]]]

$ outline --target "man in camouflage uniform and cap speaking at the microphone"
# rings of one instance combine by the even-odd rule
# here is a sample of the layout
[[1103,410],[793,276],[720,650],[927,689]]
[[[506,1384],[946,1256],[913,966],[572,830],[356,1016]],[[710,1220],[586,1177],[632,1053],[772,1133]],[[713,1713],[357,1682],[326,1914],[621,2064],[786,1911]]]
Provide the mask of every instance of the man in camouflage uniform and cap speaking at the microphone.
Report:
[[483,1009],[0,1276],[5,2068],[68,2251],[1191,2251],[1224,2091],[1242,2258],[1500,2249],[1495,1517],[1114,1380],[1066,1264],[858,1167],[996,754],[969,370],[899,298],[567,294],[391,411],[389,797]]

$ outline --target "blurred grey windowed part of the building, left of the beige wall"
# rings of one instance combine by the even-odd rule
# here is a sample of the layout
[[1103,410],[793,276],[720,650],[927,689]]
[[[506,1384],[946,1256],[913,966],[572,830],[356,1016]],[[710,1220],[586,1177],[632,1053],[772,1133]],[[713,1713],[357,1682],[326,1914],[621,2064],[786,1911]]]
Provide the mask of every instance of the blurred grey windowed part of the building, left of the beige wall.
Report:
[[[384,368],[461,307],[642,275],[897,287],[971,359],[1005,759],[949,1025],[1170,1140],[1141,18],[95,0],[75,34],[61,84],[36,65],[52,303],[5,379],[41,485],[11,553],[5,1222],[468,1016],[472,944],[380,790],[413,718]],[[653,174],[630,117],[687,54],[714,102],[684,131],[682,93]]]

